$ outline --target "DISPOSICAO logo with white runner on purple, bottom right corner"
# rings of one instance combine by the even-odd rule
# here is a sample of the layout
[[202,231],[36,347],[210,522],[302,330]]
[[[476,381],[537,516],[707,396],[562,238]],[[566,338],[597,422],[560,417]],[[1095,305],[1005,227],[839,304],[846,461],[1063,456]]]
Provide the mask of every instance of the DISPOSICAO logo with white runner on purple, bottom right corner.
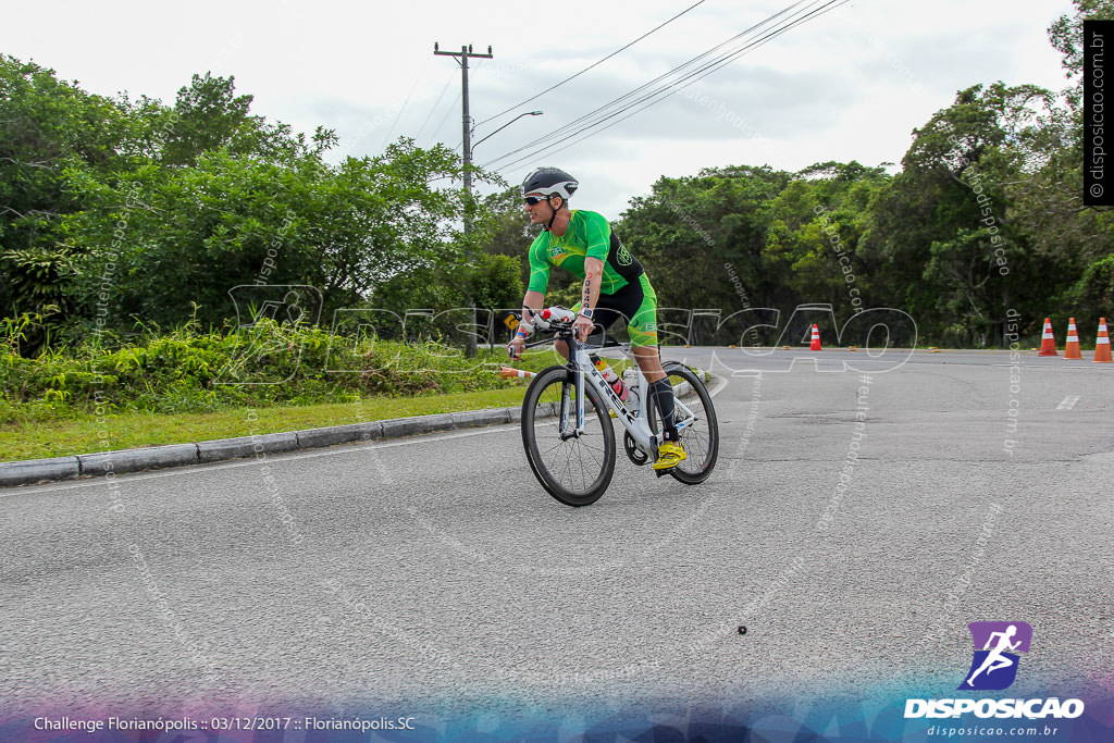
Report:
[[[971,622],[975,657],[957,691],[1000,691],[1017,678],[1020,656],[1028,653],[1033,627],[1025,622]],[[905,716],[959,717],[974,712],[976,717],[1026,717],[1039,720],[1075,718],[1083,714],[1081,700],[1058,697],[1034,700],[906,700]]]

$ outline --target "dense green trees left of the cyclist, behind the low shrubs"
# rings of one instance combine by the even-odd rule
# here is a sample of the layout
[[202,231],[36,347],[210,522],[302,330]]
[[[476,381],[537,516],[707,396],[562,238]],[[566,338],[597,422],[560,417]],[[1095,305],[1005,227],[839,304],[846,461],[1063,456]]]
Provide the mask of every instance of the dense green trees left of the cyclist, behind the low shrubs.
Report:
[[518,302],[517,264],[467,250],[459,217],[483,211],[453,186],[451,150],[401,138],[330,164],[332,131],[295,135],[250,106],[231,78],[194,76],[168,107],[0,56],[0,307],[9,327],[33,320],[23,353],[235,324],[237,285],[313,286],[326,320],[373,291],[441,284],[438,272],[488,305]]

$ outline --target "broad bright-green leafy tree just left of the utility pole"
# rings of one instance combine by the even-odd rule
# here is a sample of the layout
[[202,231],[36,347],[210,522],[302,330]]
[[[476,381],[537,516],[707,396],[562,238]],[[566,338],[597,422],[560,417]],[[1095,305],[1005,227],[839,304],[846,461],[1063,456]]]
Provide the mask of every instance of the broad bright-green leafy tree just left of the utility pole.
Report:
[[235,316],[233,286],[310,284],[329,316],[414,264],[459,263],[460,190],[433,185],[459,177],[453,153],[403,139],[334,167],[325,145],[299,145],[292,163],[219,149],[189,167],[148,163],[129,179],[76,182],[99,204],[66,225],[82,254],[82,301],[97,304],[107,284],[101,302],[117,325],[194,315],[221,326]]

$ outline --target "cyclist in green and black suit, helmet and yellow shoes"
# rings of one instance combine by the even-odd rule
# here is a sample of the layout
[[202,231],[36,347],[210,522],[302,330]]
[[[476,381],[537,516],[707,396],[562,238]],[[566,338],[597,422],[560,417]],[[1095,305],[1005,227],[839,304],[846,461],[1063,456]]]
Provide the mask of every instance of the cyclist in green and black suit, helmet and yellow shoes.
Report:
[[[676,467],[685,459],[673,420],[673,390],[662,369],[657,348],[657,295],[642,264],[627,252],[602,215],[584,209],[569,211],[568,201],[579,184],[558,168],[538,168],[522,182],[522,198],[531,224],[545,227],[530,245],[530,283],[522,297],[522,322],[508,346],[512,358],[521,355],[534,329],[527,309],[545,306],[549,268],[560,266],[584,281],[574,330],[582,342],[598,323],[609,327],[620,316],[631,333],[635,362],[649,382],[651,400],[662,414],[663,438],[657,448],[655,470]],[[557,351],[568,359],[563,341]]]

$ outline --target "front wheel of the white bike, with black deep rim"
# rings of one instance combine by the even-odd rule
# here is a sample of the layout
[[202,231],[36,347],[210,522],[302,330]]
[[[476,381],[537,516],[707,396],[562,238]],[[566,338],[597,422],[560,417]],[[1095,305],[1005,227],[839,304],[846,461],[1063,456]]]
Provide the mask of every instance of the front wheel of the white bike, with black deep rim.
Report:
[[538,373],[522,401],[522,446],[530,469],[550,496],[587,506],[604,495],[615,471],[615,429],[607,408],[585,383],[584,431],[576,433],[573,373]]

